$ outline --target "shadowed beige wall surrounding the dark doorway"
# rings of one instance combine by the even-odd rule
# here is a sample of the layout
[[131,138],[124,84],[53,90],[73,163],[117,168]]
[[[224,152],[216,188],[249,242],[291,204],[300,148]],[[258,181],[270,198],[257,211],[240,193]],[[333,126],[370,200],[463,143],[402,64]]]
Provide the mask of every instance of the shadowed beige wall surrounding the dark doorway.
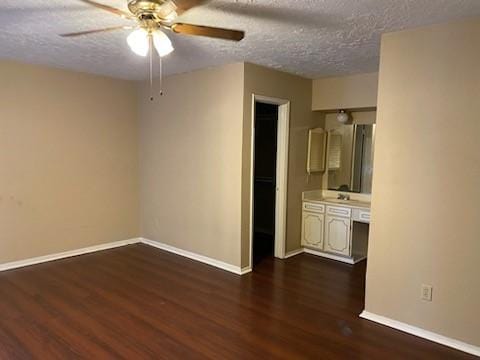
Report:
[[302,191],[319,189],[322,176],[306,172],[308,129],[324,126],[324,115],[311,111],[312,81],[245,64],[242,161],[242,266],[250,260],[250,181],[252,94],[290,100],[286,251],[300,248]]

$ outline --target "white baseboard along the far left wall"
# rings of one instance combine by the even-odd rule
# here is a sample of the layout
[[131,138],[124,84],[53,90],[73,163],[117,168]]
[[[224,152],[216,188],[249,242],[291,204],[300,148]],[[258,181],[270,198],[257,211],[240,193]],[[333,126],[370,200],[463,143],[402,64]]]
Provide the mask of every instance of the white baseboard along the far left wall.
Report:
[[69,257],[72,257],[72,256],[89,254],[89,253],[96,252],[96,251],[113,249],[113,248],[117,248],[117,247],[120,247],[120,246],[137,244],[139,242],[140,242],[140,238],[120,240],[120,241],[114,241],[114,242],[110,242],[110,243],[106,243],[106,244],[89,246],[89,247],[82,248],[82,249],[64,251],[64,252],[61,252],[61,253],[45,255],[45,256],[38,256],[38,257],[25,259],[25,260],[12,261],[12,262],[8,262],[8,263],[0,264],[0,271],[13,270],[13,269],[17,269],[17,268],[24,267],[24,266],[36,265],[36,264],[41,264],[41,263],[45,263],[45,262],[49,262],[49,261],[65,259],[65,258],[69,258]]

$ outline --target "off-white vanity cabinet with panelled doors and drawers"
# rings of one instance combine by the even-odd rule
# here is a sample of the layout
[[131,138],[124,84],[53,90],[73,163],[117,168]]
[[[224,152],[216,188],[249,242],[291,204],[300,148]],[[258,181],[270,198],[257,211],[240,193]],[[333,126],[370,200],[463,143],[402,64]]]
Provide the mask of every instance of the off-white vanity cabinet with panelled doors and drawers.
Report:
[[340,205],[304,199],[301,239],[305,252],[349,264],[365,259],[366,236],[356,237],[353,232],[355,222],[370,223],[370,208],[353,204],[358,203]]

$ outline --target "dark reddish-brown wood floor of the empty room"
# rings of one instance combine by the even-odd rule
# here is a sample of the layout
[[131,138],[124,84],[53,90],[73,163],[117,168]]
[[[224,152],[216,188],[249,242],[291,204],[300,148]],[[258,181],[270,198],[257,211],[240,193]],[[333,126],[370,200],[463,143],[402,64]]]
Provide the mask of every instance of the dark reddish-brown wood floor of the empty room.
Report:
[[364,277],[299,255],[240,278],[146,245],[3,272],[0,359],[470,358],[359,319]]

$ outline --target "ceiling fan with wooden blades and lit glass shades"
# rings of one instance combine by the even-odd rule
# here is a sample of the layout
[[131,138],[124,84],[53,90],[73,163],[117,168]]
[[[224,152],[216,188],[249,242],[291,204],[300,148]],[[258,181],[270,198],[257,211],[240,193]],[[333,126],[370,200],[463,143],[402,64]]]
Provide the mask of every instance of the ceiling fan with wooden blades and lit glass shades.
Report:
[[[130,49],[137,55],[147,56],[147,54],[150,54],[150,84],[152,83],[153,49],[155,48],[160,58],[160,72],[161,58],[174,50],[172,42],[163,30],[172,31],[177,34],[206,36],[232,41],[240,41],[245,36],[245,32],[239,30],[193,25],[176,21],[178,15],[208,2],[208,0],[127,0],[129,11],[117,9],[92,0],[79,1],[118,15],[123,19],[133,20],[136,24],[67,33],[61,34],[60,36],[75,37],[121,29],[134,30],[127,37],[127,43]],[[153,97],[151,99],[153,100]]]

